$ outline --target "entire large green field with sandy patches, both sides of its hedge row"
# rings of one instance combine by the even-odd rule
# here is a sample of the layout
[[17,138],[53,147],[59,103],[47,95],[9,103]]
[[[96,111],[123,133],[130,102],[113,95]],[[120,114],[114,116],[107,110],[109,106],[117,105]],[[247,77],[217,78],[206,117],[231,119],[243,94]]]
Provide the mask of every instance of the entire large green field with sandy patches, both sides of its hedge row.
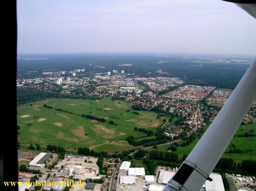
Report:
[[[41,146],[55,144],[69,149],[99,146],[94,149],[113,151],[111,146],[113,148],[114,142],[124,141],[131,135],[134,137],[145,135],[133,130],[135,126],[154,131],[161,124],[161,121],[155,119],[157,113],[143,111],[139,112],[141,115],[136,115],[132,113],[132,108],[126,102],[120,100],[113,102],[108,98],[101,100],[48,99],[31,104],[32,106],[23,104],[17,108],[18,125],[21,127],[18,141],[24,144],[39,143]],[[107,121],[113,120],[118,126],[45,108],[43,104],[79,115],[84,113],[104,117]],[[126,111],[128,108],[130,112]],[[85,133],[89,135],[86,136]],[[101,145],[109,141],[113,144]],[[118,146],[117,144],[113,152],[132,148],[129,145],[124,146],[120,143],[121,145]]]

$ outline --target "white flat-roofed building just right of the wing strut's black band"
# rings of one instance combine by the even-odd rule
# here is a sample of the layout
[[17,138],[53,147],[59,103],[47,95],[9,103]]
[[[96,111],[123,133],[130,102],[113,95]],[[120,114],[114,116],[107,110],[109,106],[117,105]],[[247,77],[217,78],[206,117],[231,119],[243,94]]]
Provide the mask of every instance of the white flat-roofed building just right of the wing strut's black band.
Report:
[[207,191],[225,191],[221,175],[211,173],[210,177],[213,181],[206,180],[203,188]]

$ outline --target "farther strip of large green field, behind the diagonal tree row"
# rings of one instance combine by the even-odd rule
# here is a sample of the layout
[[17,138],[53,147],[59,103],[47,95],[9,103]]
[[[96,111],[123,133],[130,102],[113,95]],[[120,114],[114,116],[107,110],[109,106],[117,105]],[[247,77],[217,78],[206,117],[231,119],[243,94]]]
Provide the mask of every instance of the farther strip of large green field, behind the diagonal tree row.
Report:
[[[140,115],[132,113],[132,107],[121,100],[112,101],[109,98],[101,100],[85,100],[85,99],[49,99],[41,100],[38,102],[32,102],[35,105],[35,110],[40,109],[40,106],[47,104],[53,108],[61,108],[75,114],[88,114],[95,117],[105,118],[107,121],[112,120],[119,126],[134,129],[145,128],[155,131],[155,129],[161,124],[161,121],[155,119],[157,113],[147,111],[136,111]],[[126,110],[130,110],[127,112]],[[114,117],[114,118],[113,118]]]

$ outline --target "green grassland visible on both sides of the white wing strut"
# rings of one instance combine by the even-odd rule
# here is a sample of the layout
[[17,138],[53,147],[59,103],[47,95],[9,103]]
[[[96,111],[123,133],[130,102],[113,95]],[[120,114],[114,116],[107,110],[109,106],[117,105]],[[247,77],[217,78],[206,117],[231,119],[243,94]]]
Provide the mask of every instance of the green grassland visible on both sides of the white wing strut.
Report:
[[[253,137],[249,136],[248,138],[238,137],[238,135],[241,136],[241,134],[248,132],[248,129],[254,129],[254,134],[256,134],[255,123],[251,125],[240,126],[236,131],[236,136],[231,140],[230,144],[228,145],[225,151],[226,153],[224,153],[222,157],[232,158],[236,163],[242,162],[243,160],[256,160],[256,147],[255,147],[256,136],[253,136]],[[183,154],[189,154],[192,151],[192,149],[195,147],[198,141],[199,139],[196,139],[189,146],[177,147],[177,151],[174,151],[174,152],[177,152],[178,157],[180,159],[180,157],[182,157]],[[185,141],[180,141],[178,142],[178,144],[182,144],[182,142],[185,142]],[[238,148],[239,150],[243,150],[243,153],[231,153],[231,154],[227,153],[230,151],[230,149],[234,149],[232,145],[235,145],[235,147]],[[168,152],[167,150],[168,147],[170,147],[170,145],[157,147],[157,150]],[[246,149],[248,150],[252,149],[252,151],[246,151]],[[152,150],[154,149],[150,149],[148,151],[152,151]]]

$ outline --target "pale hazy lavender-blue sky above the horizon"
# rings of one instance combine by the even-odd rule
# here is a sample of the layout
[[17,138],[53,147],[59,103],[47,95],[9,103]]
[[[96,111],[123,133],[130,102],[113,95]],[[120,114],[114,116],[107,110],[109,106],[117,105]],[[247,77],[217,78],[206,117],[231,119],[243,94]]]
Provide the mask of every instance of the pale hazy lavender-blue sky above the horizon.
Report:
[[18,54],[256,55],[256,19],[222,0],[17,0]]

